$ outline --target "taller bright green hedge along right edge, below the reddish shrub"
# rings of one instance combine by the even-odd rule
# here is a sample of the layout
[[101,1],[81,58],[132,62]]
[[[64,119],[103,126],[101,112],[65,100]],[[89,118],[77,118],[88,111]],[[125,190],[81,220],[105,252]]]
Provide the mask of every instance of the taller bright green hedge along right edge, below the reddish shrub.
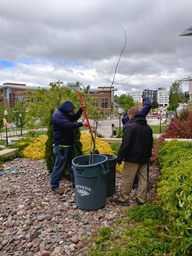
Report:
[[158,198],[168,210],[174,255],[192,254],[192,143],[163,142],[158,150],[161,181]]

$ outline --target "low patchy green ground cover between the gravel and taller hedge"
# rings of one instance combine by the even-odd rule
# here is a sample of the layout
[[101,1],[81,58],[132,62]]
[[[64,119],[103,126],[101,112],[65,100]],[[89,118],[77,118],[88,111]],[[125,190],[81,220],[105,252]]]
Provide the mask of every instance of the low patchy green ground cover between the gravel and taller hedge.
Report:
[[[170,251],[170,239],[165,235],[164,211],[160,206],[146,204],[123,212],[116,226],[102,227],[88,255],[154,256]],[[137,223],[137,222],[139,223]]]

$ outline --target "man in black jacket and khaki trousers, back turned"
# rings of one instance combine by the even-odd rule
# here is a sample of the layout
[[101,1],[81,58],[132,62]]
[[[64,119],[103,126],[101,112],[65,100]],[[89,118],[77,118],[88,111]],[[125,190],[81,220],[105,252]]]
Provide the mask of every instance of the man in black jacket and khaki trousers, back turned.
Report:
[[144,204],[147,199],[147,163],[151,157],[153,133],[146,119],[140,115],[138,108],[130,108],[128,115],[130,124],[124,131],[116,159],[117,164],[124,161],[120,197],[114,202],[120,205],[129,204],[129,196],[137,174],[139,183],[136,191],[136,202],[140,205]]

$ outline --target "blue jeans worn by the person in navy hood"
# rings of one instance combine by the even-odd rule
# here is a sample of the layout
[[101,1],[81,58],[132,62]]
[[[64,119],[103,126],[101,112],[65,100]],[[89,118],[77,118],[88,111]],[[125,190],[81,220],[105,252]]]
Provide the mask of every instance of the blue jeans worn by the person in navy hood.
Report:
[[72,185],[74,186],[74,174],[72,167],[72,159],[76,157],[75,146],[70,147],[60,147],[54,146],[53,153],[55,154],[55,164],[53,167],[53,172],[50,180],[51,189],[56,189],[59,187],[61,177],[64,174],[65,168],[68,167],[70,172]]

